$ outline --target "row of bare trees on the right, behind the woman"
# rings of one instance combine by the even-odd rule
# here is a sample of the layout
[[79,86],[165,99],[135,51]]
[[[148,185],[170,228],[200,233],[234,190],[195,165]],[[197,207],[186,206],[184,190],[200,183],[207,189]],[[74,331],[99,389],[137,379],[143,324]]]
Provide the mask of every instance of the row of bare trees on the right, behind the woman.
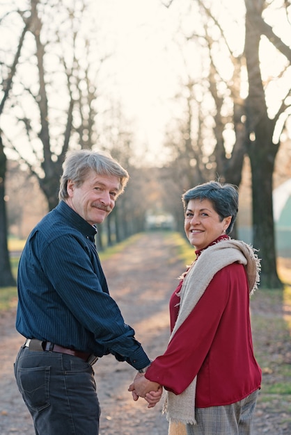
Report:
[[[179,97],[184,102],[186,115],[168,138],[175,156],[175,182],[180,184],[181,190],[219,175],[223,181],[239,186],[244,156],[248,155],[252,176],[253,245],[260,249],[262,257],[261,282],[266,287],[280,287],[276,273],[272,190],[281,133],[290,115],[291,49],[284,43],[284,34],[280,37],[274,32],[275,22],[268,24],[267,20],[280,19],[281,30],[287,31],[286,38],[288,32],[290,34],[290,1],[245,0],[242,49],[239,49],[237,36],[239,22],[235,23],[237,32],[232,35],[232,38],[235,35],[234,44],[228,34],[232,18],[227,10],[221,9],[221,4],[215,10],[215,2],[193,0],[190,3],[191,17],[195,13],[199,15],[200,26],[195,31],[182,32],[182,47],[191,44],[192,54],[198,45],[204,48],[200,58],[203,79],[195,78],[190,70],[181,88]],[[171,1],[171,8],[174,4],[175,0]],[[234,8],[238,6],[237,2],[233,3]],[[276,31],[280,31],[278,26]],[[268,56],[275,56],[281,65],[277,75],[269,75],[267,80],[263,78],[260,57],[264,38],[269,44]],[[187,65],[187,58],[185,63]],[[268,92],[274,82],[281,89],[281,95],[268,105]],[[246,85],[247,92],[244,91]]]

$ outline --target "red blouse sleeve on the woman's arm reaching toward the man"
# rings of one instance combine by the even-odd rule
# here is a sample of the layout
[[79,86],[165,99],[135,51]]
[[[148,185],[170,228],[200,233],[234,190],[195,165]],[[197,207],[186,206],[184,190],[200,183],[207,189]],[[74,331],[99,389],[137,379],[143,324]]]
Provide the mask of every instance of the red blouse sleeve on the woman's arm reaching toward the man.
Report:
[[148,368],[146,378],[166,390],[182,393],[194,380],[210,350],[230,292],[229,266],[214,275],[187,319],[175,332],[166,352]]

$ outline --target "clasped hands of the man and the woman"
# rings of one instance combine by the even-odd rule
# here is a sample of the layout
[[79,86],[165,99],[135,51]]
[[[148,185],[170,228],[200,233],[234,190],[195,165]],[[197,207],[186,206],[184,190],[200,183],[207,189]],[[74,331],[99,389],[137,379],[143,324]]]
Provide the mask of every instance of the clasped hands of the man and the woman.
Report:
[[132,392],[133,400],[143,397],[148,402],[148,408],[153,408],[162,397],[163,387],[157,382],[146,379],[143,373],[137,373],[128,391]]

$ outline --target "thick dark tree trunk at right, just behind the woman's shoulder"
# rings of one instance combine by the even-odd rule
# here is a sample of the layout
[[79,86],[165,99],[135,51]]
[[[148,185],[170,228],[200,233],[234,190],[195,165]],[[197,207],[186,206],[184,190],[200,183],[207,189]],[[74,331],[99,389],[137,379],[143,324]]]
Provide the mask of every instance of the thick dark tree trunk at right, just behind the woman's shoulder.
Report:
[[275,123],[267,115],[265,90],[260,74],[260,31],[255,15],[262,13],[263,1],[246,3],[246,67],[249,96],[246,100],[246,132],[252,174],[253,246],[262,259],[261,286],[282,288],[276,270],[272,177],[278,145],[272,142]]

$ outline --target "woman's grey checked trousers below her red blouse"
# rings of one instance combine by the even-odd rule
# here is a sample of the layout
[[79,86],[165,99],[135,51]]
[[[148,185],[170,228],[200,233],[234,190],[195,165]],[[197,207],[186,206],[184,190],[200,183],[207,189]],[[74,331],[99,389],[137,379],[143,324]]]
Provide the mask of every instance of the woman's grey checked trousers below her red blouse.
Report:
[[187,435],[251,435],[251,420],[258,390],[224,407],[196,408],[197,425],[187,425]]

